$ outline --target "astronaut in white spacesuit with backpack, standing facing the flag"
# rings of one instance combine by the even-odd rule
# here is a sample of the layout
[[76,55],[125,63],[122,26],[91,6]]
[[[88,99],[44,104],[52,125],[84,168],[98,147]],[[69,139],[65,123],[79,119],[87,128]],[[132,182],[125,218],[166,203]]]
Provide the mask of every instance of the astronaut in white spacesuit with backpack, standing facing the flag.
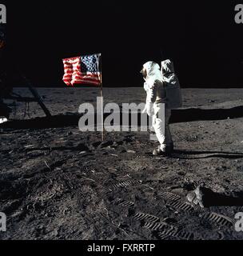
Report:
[[[169,118],[171,109],[181,105],[178,98],[181,95],[170,99],[167,95],[167,86],[177,87],[179,85],[177,77],[173,72],[173,63],[169,60],[161,62],[160,66],[156,62],[146,62],[141,70],[145,79],[144,89],[147,93],[145,110],[153,118],[153,129],[157,136],[160,146],[153,150],[154,155],[171,154],[173,151],[173,140],[169,130]],[[170,94],[174,95],[175,90],[171,90]],[[176,90],[177,91],[177,90]],[[165,116],[161,114],[165,108]],[[164,118],[161,118],[163,117]],[[164,119],[164,120],[163,120]]]

